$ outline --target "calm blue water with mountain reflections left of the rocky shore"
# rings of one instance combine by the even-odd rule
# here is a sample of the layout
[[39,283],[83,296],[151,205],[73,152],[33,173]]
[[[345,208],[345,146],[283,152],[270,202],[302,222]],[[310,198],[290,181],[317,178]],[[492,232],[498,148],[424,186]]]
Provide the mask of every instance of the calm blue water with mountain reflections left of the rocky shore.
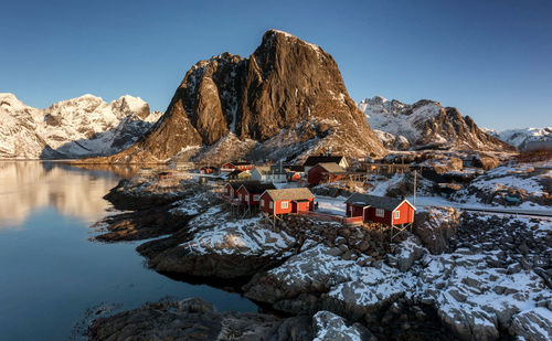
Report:
[[145,268],[135,251],[140,242],[88,241],[89,226],[109,207],[102,196],[117,184],[117,171],[0,161],[0,340],[72,339],[88,308],[126,310],[167,296],[257,310],[237,294]]

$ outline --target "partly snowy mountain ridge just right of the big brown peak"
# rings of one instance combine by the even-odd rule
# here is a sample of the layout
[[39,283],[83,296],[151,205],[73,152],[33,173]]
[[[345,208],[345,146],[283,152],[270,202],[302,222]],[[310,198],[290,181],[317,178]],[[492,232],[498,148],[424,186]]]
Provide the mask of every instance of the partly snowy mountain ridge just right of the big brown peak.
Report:
[[360,102],[359,108],[390,149],[514,150],[479,129],[469,116],[435,100],[404,104],[375,96]]

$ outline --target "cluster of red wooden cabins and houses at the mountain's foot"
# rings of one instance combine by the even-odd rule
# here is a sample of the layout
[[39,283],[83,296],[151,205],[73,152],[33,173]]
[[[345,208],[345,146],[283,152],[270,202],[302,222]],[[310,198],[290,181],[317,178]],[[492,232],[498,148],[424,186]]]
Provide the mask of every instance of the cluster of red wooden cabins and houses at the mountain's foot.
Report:
[[[323,195],[318,198],[310,191],[312,187],[332,183],[368,184],[370,174],[376,172],[417,172],[407,164],[393,163],[370,162],[364,169],[352,171],[342,156],[312,156],[302,164],[255,164],[241,160],[223,163],[219,168],[201,166],[194,172],[201,182],[222,185],[221,199],[237,220],[262,214],[275,224],[284,215],[291,214],[347,225],[368,223],[380,231],[389,230],[392,242],[402,232],[412,230],[414,222],[416,209],[404,196],[352,193],[347,200],[336,201]],[[178,171],[163,170],[157,173],[157,179],[163,182],[177,175]]]

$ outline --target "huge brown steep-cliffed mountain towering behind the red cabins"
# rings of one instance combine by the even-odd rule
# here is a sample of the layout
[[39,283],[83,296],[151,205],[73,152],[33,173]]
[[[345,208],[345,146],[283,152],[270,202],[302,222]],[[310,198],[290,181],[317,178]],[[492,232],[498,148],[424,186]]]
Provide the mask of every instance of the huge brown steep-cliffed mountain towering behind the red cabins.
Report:
[[185,74],[162,118],[129,149],[98,162],[212,163],[385,152],[321,47],[269,30],[247,58],[223,53]]

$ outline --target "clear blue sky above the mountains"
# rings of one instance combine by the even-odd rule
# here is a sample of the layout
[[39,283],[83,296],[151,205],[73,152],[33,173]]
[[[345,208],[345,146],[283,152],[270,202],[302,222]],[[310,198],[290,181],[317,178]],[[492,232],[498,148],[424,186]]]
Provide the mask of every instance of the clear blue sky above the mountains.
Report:
[[320,45],[351,97],[439,100],[497,129],[552,126],[552,1],[7,1],[0,92],[164,111],[185,72],[270,28]]

